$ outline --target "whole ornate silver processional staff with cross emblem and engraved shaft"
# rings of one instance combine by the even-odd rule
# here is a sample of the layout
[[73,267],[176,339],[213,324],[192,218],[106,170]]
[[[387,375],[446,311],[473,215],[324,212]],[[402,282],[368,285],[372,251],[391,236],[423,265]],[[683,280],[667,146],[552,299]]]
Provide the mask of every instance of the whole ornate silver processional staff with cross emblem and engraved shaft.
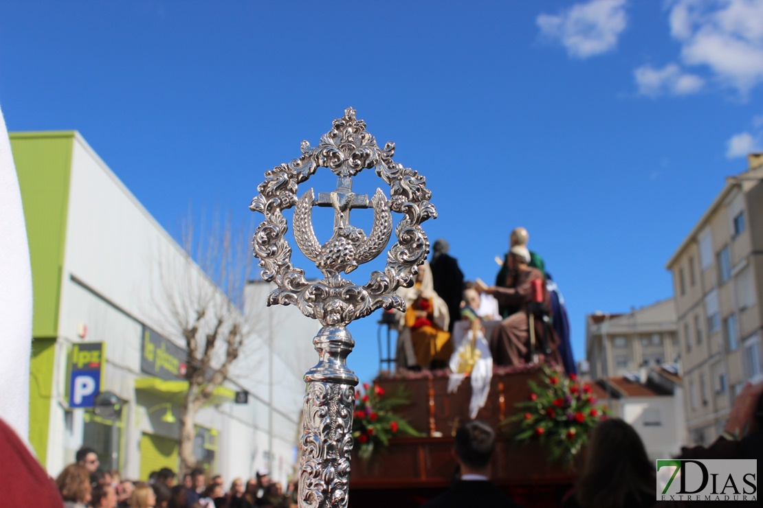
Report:
[[[250,205],[251,210],[265,215],[254,234],[254,255],[259,258],[262,278],[278,286],[270,293],[268,305],[297,305],[304,315],[323,325],[313,340],[320,360],[304,375],[307,393],[299,475],[301,508],[347,506],[358,378],[346,366],[347,355],[355,346],[346,325],[377,308],[405,312],[405,302],[394,291],[413,285],[417,267],[429,252],[429,241],[420,225],[437,216],[429,202],[426,178],[394,162],[394,143],[380,149],[355,113],[346,109],[317,147],[303,141],[299,158],[266,171],[265,181],[257,187],[259,194]],[[310,189],[298,199],[298,184],[307,181],[317,168],[329,168],[336,174],[336,190],[318,193],[316,200]],[[353,193],[352,177],[372,168],[389,185],[389,199],[381,189],[370,199]],[[334,210],[333,235],[324,244],[313,231],[313,206],[331,206]],[[291,247],[284,238],[288,225],[282,212],[292,207],[295,241],[324,274],[317,282],[308,283],[304,270],[291,264]],[[369,207],[374,222],[365,235],[350,224],[349,212]],[[387,253],[384,271],[372,272],[365,286],[344,279],[342,272],[352,272],[385,249],[393,228],[391,212],[401,213],[402,218],[394,227],[398,239]]]

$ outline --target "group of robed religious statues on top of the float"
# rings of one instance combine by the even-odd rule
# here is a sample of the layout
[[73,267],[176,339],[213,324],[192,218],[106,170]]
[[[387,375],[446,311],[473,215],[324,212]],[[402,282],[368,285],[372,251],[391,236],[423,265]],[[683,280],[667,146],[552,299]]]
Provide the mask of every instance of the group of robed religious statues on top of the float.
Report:
[[559,289],[536,252],[530,235],[515,228],[493,286],[465,280],[448,242],[433,245],[429,263],[419,267],[414,286],[398,289],[407,304],[398,315],[398,365],[443,369],[453,354],[457,321],[500,321],[488,337],[495,366],[553,363],[576,371],[569,343],[567,312]]

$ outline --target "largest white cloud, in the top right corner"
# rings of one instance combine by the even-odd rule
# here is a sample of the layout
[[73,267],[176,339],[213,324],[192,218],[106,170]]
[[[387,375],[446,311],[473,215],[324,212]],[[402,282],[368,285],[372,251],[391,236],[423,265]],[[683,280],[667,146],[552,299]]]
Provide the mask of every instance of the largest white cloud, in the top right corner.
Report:
[[763,82],[763,0],[673,0],[671,35],[685,65],[747,94]]

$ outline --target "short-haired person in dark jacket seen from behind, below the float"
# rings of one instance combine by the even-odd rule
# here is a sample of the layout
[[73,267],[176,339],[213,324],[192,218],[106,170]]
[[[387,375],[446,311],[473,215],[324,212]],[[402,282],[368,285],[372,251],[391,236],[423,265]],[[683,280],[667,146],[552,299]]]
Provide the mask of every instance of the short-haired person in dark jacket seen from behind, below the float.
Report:
[[495,449],[495,432],[484,421],[470,420],[456,430],[453,452],[461,477],[451,487],[423,505],[423,508],[521,508],[490,481],[490,458]]

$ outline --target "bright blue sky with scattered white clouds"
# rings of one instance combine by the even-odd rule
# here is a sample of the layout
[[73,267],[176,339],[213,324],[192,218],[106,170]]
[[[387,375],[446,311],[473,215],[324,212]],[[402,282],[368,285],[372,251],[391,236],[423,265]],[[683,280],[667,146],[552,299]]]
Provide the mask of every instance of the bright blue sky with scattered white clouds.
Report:
[[[530,231],[578,359],[586,314],[671,296],[665,262],[763,145],[761,81],[761,0],[0,7],[8,129],[79,130],[173,234],[189,203],[250,219],[264,171],[352,106],[427,176],[425,230],[468,279]],[[351,327],[364,380],[374,321]]]

